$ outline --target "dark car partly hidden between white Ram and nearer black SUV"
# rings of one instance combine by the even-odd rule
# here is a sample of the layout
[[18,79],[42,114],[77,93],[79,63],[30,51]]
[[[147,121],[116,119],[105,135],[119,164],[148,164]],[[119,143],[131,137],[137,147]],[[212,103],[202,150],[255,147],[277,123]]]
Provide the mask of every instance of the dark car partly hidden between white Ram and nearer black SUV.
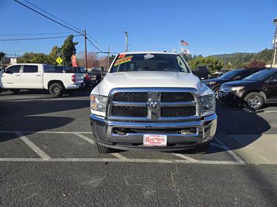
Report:
[[202,81],[202,83],[205,83],[209,88],[211,88],[211,90],[215,92],[215,97],[218,99],[218,92],[220,91],[220,86],[223,83],[244,79],[245,77],[248,77],[249,75],[252,75],[255,72],[258,72],[263,69],[265,68],[242,68],[231,70],[216,79],[206,79]]

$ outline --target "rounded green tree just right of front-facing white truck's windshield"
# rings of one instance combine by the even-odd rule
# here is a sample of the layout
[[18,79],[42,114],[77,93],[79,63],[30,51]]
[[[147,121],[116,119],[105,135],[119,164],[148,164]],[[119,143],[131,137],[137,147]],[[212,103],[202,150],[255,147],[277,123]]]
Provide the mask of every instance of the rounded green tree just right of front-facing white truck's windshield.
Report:
[[189,65],[193,70],[196,70],[197,66],[207,66],[208,70],[213,73],[222,69],[223,63],[215,57],[196,57],[190,60]]

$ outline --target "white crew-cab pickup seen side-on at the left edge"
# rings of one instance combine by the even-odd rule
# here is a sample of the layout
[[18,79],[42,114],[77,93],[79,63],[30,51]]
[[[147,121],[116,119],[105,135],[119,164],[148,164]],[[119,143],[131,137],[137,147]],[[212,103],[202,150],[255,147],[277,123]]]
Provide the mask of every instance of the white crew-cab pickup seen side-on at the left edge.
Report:
[[58,97],[65,90],[80,88],[83,83],[82,74],[57,72],[54,66],[46,64],[16,64],[0,73],[0,89],[15,93],[21,89],[46,89]]

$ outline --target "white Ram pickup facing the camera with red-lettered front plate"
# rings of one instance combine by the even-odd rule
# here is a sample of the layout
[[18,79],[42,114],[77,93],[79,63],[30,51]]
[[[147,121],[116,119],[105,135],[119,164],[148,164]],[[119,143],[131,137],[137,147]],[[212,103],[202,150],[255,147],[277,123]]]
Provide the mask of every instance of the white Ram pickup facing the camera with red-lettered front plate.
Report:
[[122,52],[91,91],[98,152],[206,152],[217,128],[215,94],[170,52]]

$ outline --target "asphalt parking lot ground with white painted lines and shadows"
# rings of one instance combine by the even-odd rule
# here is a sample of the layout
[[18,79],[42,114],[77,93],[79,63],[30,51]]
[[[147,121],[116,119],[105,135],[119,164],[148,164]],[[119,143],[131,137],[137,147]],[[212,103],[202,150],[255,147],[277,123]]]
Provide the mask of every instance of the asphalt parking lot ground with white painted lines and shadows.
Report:
[[0,95],[1,206],[277,204],[277,106],[251,112],[218,103],[207,154],[100,155],[89,113],[89,91]]

